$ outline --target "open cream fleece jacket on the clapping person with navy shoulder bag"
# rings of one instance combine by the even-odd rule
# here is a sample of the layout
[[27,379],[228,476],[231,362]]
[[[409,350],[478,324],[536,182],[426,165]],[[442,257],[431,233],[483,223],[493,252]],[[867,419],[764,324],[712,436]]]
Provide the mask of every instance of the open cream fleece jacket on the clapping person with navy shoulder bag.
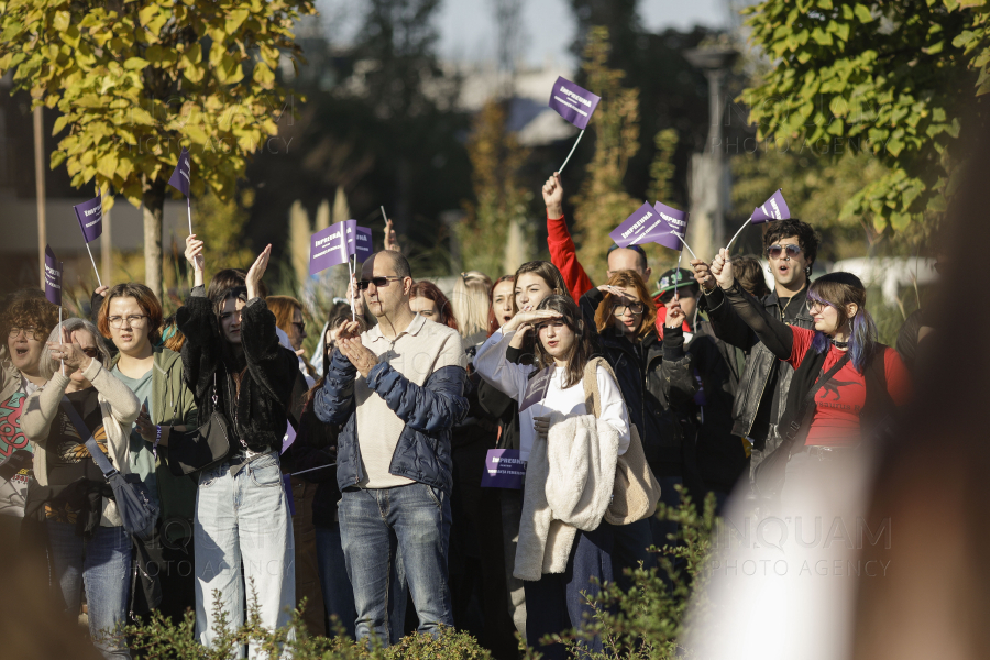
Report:
[[[103,369],[99,360],[90,360],[89,366],[82,372],[82,376],[92,383],[99,396],[110,462],[113,463],[113,466],[121,474],[130,474],[131,471],[128,466],[130,449],[128,446],[131,426],[138,419],[141,404],[127,385]],[[48,485],[48,433],[68,384],[68,376],[63,376],[56,372],[44,387],[28,397],[28,402],[24,405],[21,430],[36,444],[34,451],[34,479],[42,486]],[[120,515],[117,513],[117,504],[112,499],[103,498],[103,515],[100,525],[103,527],[118,527],[121,525]]]

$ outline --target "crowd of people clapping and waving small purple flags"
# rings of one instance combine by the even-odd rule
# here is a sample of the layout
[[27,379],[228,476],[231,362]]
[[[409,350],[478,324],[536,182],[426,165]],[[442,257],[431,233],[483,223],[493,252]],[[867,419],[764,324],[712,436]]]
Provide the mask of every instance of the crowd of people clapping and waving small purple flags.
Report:
[[[209,646],[217,604],[274,629],[304,597],[311,635],[388,645],[454,626],[515,658],[518,631],[562,658],[541,639],[582,624],[583,594],[628,584],[674,542],[658,502],[772,506],[855,460],[906,400],[864,284],[811,282],[809,224],[768,223],[772,288],[759,257],[723,250],[650,292],[639,246],[613,246],[595,286],[560,177],[542,193],[549,262],[463,273],[448,298],[388,241],[309,360],[302,305],[264,286],[271,246],[207,283],[190,235],[194,288],[169,318],[139,283],[97,289],[92,318],[62,323],[42,292],[8,296],[8,557],[45,558],[73,620],[85,593],[106,658],[130,657],[113,630],[131,616],[193,609]],[[147,487],[151,535],[125,529],[95,447]],[[518,452],[518,487],[482,486],[492,450]]]

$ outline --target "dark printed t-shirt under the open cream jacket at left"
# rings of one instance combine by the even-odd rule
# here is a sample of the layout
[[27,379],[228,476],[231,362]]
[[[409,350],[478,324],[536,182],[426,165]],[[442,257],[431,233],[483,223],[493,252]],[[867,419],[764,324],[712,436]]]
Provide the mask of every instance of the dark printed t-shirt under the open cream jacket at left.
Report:
[[[100,411],[99,393],[95,387],[87,387],[81,392],[70,392],[66,396],[69,403],[82,418],[86,428],[92,433],[97,444],[109,458],[107,447],[107,431],[103,429],[103,415]],[[48,432],[47,469],[48,484],[52,486],[65,486],[79,480],[92,482],[94,486],[101,487],[106,482],[100,468],[94,462],[86,449],[86,440],[73,425],[73,420],[58,406],[52,429]],[[45,515],[48,519],[59,522],[76,522],[78,512],[70,504],[64,502],[45,505]]]

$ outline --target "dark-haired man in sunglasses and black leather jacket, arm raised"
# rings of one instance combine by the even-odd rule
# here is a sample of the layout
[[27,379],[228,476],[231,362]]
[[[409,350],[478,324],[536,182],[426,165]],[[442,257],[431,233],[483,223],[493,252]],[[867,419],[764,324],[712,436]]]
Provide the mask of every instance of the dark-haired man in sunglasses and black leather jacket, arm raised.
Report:
[[[774,286],[761,302],[768,312],[783,322],[814,329],[805,299],[811,268],[818,252],[815,230],[798,219],[770,222],[763,246]],[[705,306],[715,336],[748,352],[733,406],[733,435],[751,446],[751,474],[763,457],[780,446],[778,425],[787,407],[787,392],[794,370],[778,360],[725,301],[708,264],[693,260],[691,265],[705,293]]]

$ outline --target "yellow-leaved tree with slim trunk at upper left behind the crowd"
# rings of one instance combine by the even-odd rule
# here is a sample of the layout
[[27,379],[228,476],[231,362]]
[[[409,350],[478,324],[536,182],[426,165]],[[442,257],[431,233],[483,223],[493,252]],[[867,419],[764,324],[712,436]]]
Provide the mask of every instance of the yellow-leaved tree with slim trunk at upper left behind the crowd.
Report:
[[[232,199],[292,100],[276,82],[311,0],[0,0],[0,76],[66,131],[51,166],[144,205],[146,283],[161,295],[166,182],[183,146],[193,195]],[[112,205],[107,199],[107,207]]]

